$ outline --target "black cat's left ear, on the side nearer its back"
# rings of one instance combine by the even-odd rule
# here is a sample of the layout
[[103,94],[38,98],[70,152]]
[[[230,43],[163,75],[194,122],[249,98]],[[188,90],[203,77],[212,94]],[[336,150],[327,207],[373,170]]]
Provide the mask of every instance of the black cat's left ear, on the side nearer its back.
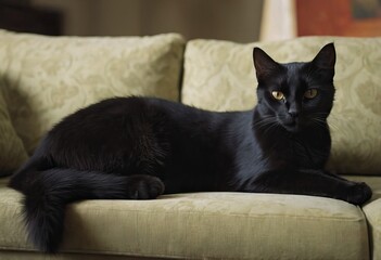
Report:
[[255,47],[253,51],[256,78],[259,80],[279,69],[279,64],[274,61],[261,48]]

